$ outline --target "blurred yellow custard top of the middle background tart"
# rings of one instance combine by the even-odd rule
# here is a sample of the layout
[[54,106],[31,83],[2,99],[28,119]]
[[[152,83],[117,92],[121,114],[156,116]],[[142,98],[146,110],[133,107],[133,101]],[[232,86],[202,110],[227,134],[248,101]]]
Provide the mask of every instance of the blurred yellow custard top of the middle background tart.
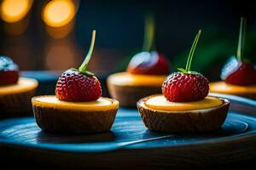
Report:
[[119,72],[108,77],[108,82],[119,86],[162,86],[166,76],[134,75],[129,72]]

